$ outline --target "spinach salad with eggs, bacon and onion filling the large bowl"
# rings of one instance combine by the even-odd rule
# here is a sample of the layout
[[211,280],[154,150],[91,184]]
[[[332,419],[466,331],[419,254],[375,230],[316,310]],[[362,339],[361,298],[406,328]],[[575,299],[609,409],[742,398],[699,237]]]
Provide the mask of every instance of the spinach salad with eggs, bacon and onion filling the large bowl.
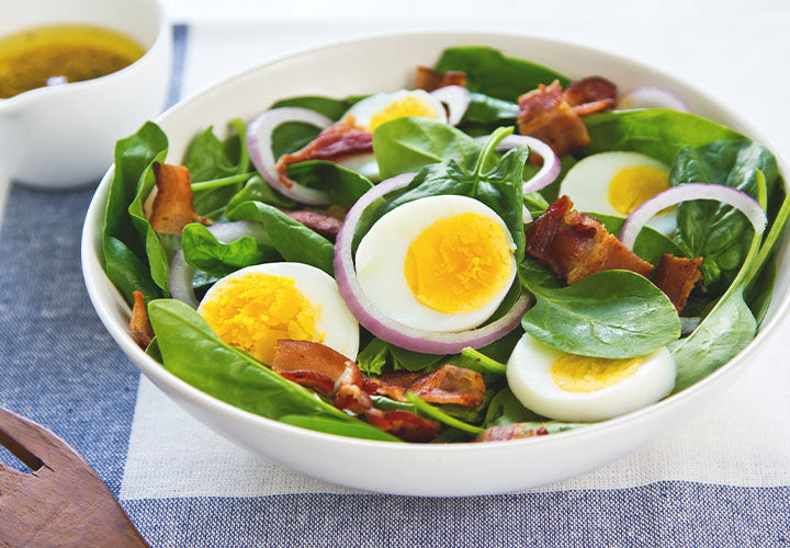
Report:
[[104,270],[149,356],[287,424],[447,443],[629,412],[754,339],[790,215],[768,149],[487,47],[419,71],[261,105],[181,167],[154,123],[117,142]]

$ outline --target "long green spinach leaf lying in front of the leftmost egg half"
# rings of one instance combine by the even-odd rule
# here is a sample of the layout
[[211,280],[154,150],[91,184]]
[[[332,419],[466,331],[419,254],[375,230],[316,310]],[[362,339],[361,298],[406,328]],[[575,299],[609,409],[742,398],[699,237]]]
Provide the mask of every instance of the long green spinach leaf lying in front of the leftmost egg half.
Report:
[[223,342],[192,308],[179,300],[148,305],[165,368],[195,388],[256,414],[321,418],[357,425],[359,434],[382,439],[381,431],[326,403],[260,362]]

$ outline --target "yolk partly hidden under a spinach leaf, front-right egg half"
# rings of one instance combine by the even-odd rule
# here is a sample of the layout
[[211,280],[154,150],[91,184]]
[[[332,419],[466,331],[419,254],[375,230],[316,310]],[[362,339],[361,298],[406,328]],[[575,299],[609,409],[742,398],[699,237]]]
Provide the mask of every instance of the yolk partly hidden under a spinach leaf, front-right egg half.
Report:
[[595,392],[627,379],[636,373],[643,358],[606,357],[563,354],[551,366],[551,377],[566,392]]

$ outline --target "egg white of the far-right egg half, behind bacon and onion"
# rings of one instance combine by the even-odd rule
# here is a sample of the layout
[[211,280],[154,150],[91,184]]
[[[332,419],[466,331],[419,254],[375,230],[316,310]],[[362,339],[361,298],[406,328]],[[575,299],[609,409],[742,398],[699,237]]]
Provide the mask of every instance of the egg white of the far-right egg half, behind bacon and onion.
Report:
[[[574,202],[574,207],[580,212],[623,217],[607,197],[609,183],[621,169],[637,165],[647,165],[669,173],[668,165],[639,152],[600,152],[588,156],[568,170],[565,179],[560,183],[560,194],[567,194]],[[672,236],[677,228],[677,213],[672,210],[658,214],[647,222],[647,226]]]

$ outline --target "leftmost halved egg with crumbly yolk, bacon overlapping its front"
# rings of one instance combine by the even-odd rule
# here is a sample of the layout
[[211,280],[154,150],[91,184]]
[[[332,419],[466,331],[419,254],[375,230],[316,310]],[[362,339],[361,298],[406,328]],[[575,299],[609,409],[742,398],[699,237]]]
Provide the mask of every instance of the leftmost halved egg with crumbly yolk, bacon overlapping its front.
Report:
[[349,359],[359,351],[359,326],[337,283],[308,264],[236,271],[206,292],[198,312],[223,341],[264,364],[281,339],[319,342]]

